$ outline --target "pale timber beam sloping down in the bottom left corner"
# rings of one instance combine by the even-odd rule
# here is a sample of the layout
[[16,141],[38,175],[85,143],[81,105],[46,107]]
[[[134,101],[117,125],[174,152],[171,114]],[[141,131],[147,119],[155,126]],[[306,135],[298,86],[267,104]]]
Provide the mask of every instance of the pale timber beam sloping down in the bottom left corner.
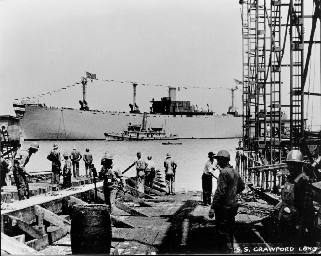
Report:
[[1,250],[15,255],[43,255],[28,245],[18,242],[14,238],[1,233]]

